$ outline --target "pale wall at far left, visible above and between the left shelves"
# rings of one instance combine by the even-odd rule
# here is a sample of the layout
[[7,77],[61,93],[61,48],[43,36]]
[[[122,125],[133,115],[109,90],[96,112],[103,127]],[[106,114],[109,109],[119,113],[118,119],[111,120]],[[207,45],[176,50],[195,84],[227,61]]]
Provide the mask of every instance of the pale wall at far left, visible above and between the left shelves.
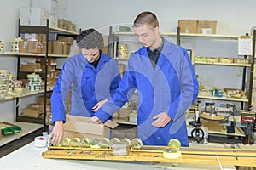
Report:
[[[31,5],[31,0],[0,0],[0,41],[4,42],[7,51],[11,42],[18,36],[19,8]],[[16,72],[17,58],[15,56],[0,55],[0,69]],[[15,74],[16,76],[16,74]],[[0,101],[0,122],[15,122],[15,99]]]

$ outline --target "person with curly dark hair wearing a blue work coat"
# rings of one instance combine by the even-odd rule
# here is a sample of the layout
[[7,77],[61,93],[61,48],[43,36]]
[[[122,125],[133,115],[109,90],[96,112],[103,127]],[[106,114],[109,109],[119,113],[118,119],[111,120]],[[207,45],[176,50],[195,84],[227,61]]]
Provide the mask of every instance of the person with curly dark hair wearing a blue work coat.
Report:
[[65,101],[70,89],[70,115],[90,117],[94,116],[94,106],[114,94],[121,80],[116,61],[101,52],[101,33],[94,29],[82,31],[77,46],[81,53],[67,59],[51,96],[52,122],[55,124],[49,135],[51,144],[59,144],[63,138],[67,112]]

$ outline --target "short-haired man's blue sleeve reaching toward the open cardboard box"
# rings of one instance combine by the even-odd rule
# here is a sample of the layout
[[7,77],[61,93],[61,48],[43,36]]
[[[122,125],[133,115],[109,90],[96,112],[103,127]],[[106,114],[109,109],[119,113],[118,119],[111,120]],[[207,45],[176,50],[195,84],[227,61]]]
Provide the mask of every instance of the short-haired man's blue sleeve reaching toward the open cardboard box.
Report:
[[115,111],[118,111],[119,108],[125,105],[125,103],[131,98],[135,88],[136,80],[134,72],[132,71],[130,62],[128,62],[124,77],[119,83],[119,88],[116,89],[113,97],[111,97],[106,104],[102,105],[102,108],[100,108],[99,111],[96,111],[95,116],[97,116],[102,122],[106,122]]

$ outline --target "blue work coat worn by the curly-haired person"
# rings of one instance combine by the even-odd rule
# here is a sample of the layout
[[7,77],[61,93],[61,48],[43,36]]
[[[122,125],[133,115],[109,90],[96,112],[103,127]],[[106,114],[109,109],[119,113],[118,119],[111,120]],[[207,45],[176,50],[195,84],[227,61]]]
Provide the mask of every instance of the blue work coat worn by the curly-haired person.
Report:
[[66,122],[67,95],[72,89],[71,111],[73,116],[94,116],[92,107],[115,93],[121,80],[119,67],[114,59],[101,53],[95,68],[82,53],[68,58],[51,96],[52,121]]

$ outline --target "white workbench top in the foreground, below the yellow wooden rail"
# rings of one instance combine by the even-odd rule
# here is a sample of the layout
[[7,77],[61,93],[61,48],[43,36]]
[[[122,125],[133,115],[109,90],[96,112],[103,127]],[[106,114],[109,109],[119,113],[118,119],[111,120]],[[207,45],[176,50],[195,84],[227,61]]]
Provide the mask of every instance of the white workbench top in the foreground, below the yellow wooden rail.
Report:
[[[64,159],[45,159],[42,153],[47,148],[36,148],[33,142],[27,144],[19,150],[15,150],[7,156],[0,158],[1,169],[4,170],[27,170],[27,169],[90,169],[90,170],[155,170],[155,169],[173,169],[173,170],[216,170],[220,169],[218,165],[203,165],[190,163],[156,163],[156,162],[135,162],[135,161],[82,161],[82,160],[64,160]],[[223,168],[235,169],[234,166],[223,166]]]

